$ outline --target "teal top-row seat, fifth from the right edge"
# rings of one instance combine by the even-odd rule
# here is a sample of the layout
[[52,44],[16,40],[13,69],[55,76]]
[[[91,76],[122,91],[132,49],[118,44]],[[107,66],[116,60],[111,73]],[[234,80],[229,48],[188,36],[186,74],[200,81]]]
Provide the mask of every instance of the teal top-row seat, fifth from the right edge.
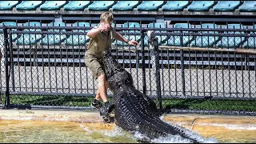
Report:
[[138,11],[158,11],[164,1],[143,1],[137,6]]

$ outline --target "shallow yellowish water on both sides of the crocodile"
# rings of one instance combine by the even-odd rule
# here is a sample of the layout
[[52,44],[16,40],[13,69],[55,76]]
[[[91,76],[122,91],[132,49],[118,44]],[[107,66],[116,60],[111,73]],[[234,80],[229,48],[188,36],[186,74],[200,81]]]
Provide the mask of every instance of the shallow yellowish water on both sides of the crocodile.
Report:
[[[207,142],[215,142],[211,138],[216,138],[218,142],[246,143],[256,142],[255,127],[235,129],[234,126],[194,125],[193,130],[209,138]],[[0,143],[138,143],[135,138],[134,135],[121,130],[114,123],[0,120]],[[152,142],[186,141],[172,136],[154,139]]]

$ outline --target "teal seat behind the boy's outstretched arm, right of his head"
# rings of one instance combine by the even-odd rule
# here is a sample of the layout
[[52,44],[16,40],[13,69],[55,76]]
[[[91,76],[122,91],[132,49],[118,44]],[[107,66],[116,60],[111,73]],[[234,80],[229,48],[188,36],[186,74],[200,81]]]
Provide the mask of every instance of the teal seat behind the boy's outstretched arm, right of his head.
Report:
[[[122,27],[140,27],[140,24],[138,22],[125,22]],[[139,30],[122,30],[124,33],[139,33]],[[122,36],[128,40],[135,40],[139,42],[141,40],[141,35],[126,35],[122,34]],[[128,46],[126,42],[120,42],[116,41],[117,46]]]

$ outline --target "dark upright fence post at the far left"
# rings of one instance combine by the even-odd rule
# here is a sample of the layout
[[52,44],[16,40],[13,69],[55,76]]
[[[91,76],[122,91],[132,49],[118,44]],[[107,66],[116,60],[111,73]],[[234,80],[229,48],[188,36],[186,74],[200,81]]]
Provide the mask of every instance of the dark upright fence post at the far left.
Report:
[[9,46],[8,43],[8,34],[7,34],[7,27],[3,26],[3,35],[4,35],[4,56],[5,56],[5,66],[6,66],[6,101],[5,104],[3,106],[4,109],[8,109],[10,108],[10,91],[9,91],[9,79],[10,79],[10,75],[9,75],[9,62],[8,62],[8,53],[7,53],[7,46]]

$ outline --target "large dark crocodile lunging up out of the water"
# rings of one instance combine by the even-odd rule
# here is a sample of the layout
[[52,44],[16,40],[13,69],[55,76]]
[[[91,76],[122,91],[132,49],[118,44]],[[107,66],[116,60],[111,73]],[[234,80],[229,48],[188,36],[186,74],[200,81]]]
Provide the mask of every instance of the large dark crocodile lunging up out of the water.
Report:
[[114,121],[117,126],[131,133],[143,134],[145,137],[138,139],[141,142],[150,142],[154,138],[169,134],[178,134],[189,142],[200,141],[182,126],[174,126],[162,121],[155,102],[135,89],[131,74],[122,68],[110,51],[102,51],[102,56],[109,88],[114,95]]

